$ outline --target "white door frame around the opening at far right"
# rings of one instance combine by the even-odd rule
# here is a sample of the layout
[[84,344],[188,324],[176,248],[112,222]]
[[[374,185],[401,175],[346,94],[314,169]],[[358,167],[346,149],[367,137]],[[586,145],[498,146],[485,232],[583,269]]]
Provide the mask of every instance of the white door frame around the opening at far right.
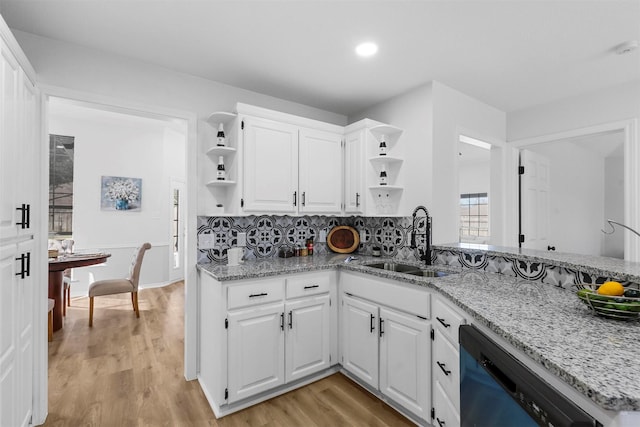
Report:
[[[640,171],[637,165],[640,165],[640,147],[638,147],[638,119],[626,119],[615,122],[602,123],[584,128],[572,129],[563,132],[552,133],[548,135],[537,136],[533,138],[524,138],[509,143],[510,146],[518,150],[530,147],[536,144],[558,141],[561,139],[571,139],[584,137],[592,134],[622,131],[624,133],[624,223],[633,229],[640,229]],[[517,160],[517,159],[516,159]],[[511,165],[508,178],[517,182],[518,176],[515,173],[518,170],[518,164],[513,158],[509,159]],[[510,200],[512,212],[518,212],[518,194],[511,195]],[[603,227],[605,225],[603,224]],[[631,235],[627,230],[624,232],[624,259],[625,261],[640,262],[640,239]],[[517,228],[509,230],[512,236],[518,235]]]

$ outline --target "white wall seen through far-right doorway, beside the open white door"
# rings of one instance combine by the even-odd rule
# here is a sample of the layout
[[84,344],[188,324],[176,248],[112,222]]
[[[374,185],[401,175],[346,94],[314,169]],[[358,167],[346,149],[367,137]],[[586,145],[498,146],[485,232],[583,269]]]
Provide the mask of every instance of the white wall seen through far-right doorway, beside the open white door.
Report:
[[572,142],[527,147],[549,159],[549,245],[558,252],[601,253],[604,158]]

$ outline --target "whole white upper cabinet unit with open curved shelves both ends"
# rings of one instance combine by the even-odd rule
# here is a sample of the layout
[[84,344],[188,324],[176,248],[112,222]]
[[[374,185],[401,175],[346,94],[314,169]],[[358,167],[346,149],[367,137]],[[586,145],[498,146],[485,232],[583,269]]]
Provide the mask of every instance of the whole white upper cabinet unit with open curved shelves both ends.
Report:
[[213,197],[200,201],[208,206],[201,215],[400,214],[401,129],[369,119],[336,126],[245,104],[236,111],[208,119],[200,174]]

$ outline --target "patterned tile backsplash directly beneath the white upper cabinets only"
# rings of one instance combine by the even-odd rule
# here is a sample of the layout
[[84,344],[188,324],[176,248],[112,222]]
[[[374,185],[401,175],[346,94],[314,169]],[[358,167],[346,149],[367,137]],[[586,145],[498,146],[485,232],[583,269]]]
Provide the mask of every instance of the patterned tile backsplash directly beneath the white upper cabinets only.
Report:
[[[242,217],[198,217],[198,235],[215,234],[213,249],[198,248],[198,262],[225,261],[227,249],[238,246],[238,233],[247,235],[246,259],[278,256],[282,247],[304,246],[308,238],[314,239],[316,253],[329,252],[326,243],[319,242],[322,231],[329,233],[338,225],[349,225],[360,234],[357,252],[370,255],[374,246],[383,256],[401,259],[416,259],[421,249],[411,249],[411,217],[334,217],[334,216],[242,216]],[[416,220],[418,248],[424,248],[424,218]]]

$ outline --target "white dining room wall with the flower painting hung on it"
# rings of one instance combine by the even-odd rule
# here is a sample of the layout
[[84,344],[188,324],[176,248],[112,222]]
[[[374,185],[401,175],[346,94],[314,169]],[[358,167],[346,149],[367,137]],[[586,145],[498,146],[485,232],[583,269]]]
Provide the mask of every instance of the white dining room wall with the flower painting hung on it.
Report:
[[[108,262],[73,271],[72,294],[94,280],[126,277],[137,246],[150,242],[140,285],[169,280],[170,178],[185,179],[185,134],[166,121],[52,102],[49,132],[75,137],[73,238],[76,251],[107,251]],[[100,208],[102,176],[142,179],[140,211]]]

